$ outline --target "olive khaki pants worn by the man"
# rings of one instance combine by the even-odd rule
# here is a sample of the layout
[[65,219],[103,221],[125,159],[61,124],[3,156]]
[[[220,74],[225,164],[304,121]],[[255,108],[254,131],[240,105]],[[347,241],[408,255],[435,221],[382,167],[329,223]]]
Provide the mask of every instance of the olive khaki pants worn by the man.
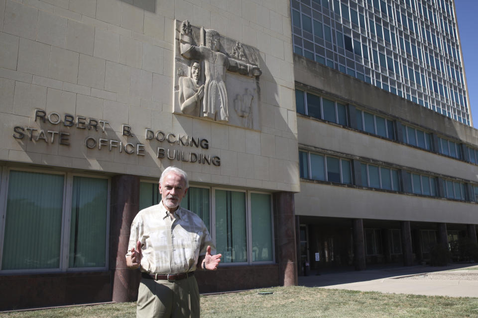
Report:
[[169,282],[141,278],[137,318],[199,318],[199,289],[194,276]]

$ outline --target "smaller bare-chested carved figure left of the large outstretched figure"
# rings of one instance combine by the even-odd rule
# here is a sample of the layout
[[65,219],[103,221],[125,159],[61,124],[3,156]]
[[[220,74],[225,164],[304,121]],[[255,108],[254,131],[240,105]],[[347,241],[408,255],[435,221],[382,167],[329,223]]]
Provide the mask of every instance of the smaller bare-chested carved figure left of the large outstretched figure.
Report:
[[200,71],[199,63],[194,62],[191,65],[190,76],[179,79],[179,105],[184,114],[199,115],[204,96],[204,85],[198,84]]

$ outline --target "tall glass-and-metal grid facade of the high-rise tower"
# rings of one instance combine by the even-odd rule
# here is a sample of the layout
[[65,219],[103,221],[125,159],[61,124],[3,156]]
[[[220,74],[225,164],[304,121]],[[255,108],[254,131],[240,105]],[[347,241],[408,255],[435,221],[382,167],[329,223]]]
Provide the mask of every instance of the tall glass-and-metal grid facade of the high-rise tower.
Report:
[[294,53],[473,125],[452,0],[291,0]]

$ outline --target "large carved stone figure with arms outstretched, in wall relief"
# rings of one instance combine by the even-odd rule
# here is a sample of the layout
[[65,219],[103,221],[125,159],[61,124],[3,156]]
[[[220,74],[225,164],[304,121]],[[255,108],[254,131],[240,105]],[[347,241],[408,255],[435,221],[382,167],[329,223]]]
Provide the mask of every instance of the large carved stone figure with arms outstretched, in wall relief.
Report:
[[228,121],[228,91],[226,87],[226,71],[255,77],[261,75],[261,70],[221,52],[221,40],[215,30],[206,30],[206,46],[196,45],[193,40],[189,21],[181,23],[180,53],[190,60],[204,61],[204,97],[200,116],[218,121]]

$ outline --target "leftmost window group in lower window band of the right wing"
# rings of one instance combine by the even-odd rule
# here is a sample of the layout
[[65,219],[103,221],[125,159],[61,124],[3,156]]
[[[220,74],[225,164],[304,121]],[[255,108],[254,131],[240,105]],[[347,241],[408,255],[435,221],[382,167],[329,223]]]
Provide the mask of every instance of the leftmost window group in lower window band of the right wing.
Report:
[[[307,154],[309,155],[310,164],[302,164]],[[300,167],[304,166],[300,172],[302,178],[352,184],[352,168],[348,159],[299,151],[299,160],[301,162]],[[309,175],[305,174],[305,166],[310,171]],[[309,166],[310,169],[308,168]]]

